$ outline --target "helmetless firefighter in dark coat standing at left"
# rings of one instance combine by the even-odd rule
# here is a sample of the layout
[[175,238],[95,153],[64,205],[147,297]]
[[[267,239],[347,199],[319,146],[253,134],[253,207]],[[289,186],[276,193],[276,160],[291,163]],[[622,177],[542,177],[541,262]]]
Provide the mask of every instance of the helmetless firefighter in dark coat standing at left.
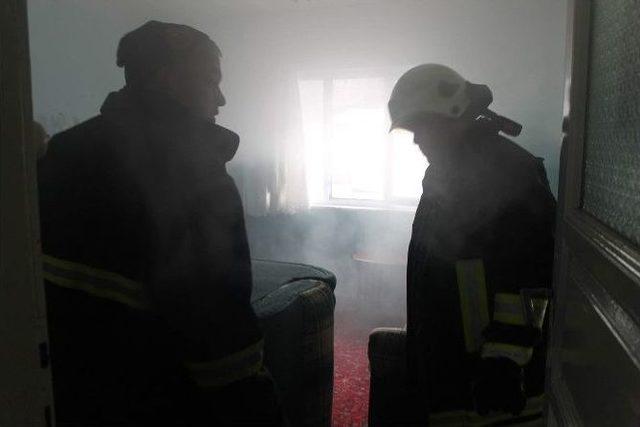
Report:
[[279,425],[220,50],[150,21],[120,41],[126,85],[51,139],[39,192],[57,420]]

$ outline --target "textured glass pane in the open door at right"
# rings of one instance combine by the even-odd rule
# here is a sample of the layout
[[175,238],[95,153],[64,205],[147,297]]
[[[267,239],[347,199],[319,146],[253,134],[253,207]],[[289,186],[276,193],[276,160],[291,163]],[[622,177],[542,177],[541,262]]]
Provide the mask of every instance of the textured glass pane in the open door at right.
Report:
[[[640,245],[638,2],[593,2],[584,209]],[[612,65],[613,64],[613,65]]]

